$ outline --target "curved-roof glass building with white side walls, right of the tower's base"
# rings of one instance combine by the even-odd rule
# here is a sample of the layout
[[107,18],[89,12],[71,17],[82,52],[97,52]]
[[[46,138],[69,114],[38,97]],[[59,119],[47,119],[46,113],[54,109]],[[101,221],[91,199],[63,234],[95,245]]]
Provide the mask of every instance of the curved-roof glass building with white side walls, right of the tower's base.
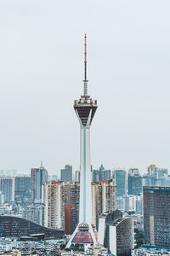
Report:
[[103,212],[99,217],[98,242],[115,256],[131,256],[133,219],[122,218],[119,210]]

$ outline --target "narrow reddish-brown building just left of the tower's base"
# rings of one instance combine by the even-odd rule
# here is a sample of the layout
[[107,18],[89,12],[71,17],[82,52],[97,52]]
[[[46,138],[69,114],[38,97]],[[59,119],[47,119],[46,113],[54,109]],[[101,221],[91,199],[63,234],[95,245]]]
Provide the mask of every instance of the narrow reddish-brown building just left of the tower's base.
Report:
[[75,207],[65,206],[65,234],[71,235],[76,228]]

